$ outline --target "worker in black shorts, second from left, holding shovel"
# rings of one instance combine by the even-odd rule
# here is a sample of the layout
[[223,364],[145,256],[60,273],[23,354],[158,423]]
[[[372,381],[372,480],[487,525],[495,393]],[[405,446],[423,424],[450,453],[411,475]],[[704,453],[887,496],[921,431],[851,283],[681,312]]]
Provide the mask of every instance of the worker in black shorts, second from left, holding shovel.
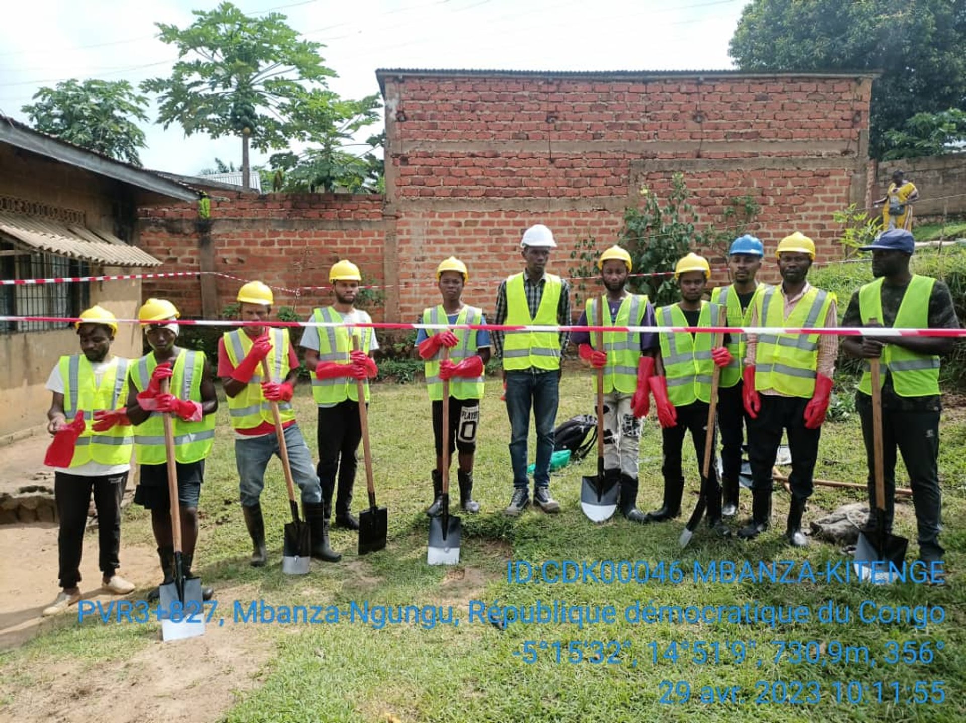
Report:
[[[151,353],[132,361],[128,382],[128,419],[134,425],[134,453],[140,463],[140,482],[134,502],[151,510],[163,582],[173,579],[174,548],[169,512],[167,458],[164,452],[162,414],[170,414],[174,433],[178,505],[181,508],[182,562],[185,577],[191,576],[194,547],[198,541],[198,498],[205,476],[205,459],[214,441],[214,413],[218,397],[204,351],[176,346],[181,316],[167,299],[149,298],[138,310]],[[161,381],[168,379],[168,392]],[[205,599],[212,589],[204,588]],[[149,594],[156,598],[157,589]]]

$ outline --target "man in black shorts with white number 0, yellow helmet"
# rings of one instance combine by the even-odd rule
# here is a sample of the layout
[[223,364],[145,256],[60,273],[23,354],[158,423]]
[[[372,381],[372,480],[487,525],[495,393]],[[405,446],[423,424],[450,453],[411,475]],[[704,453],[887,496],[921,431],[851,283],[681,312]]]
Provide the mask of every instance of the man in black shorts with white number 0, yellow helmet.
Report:
[[[424,309],[425,324],[485,324],[483,311],[463,303],[463,287],[469,279],[467,265],[449,257],[436,269],[442,303]],[[433,470],[433,504],[426,514],[435,517],[442,512],[442,405],[449,405],[449,454],[459,452],[460,508],[476,514],[479,503],[473,500],[473,458],[483,398],[483,370],[490,359],[490,334],[486,329],[448,329],[416,335],[419,357],[426,362],[426,386],[433,406],[433,435],[436,438],[436,469]],[[442,348],[449,358],[442,360]],[[449,399],[442,398],[442,382],[450,379]]]

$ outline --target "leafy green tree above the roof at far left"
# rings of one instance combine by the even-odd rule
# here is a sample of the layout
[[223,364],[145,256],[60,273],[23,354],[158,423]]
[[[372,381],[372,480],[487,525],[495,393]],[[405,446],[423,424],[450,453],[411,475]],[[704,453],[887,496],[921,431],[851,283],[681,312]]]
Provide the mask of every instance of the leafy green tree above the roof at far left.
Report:
[[149,120],[148,98],[135,93],[127,80],[65,80],[54,88],[41,88],[33,99],[36,102],[20,110],[37,130],[141,165],[138,150],[148,145],[134,121]]

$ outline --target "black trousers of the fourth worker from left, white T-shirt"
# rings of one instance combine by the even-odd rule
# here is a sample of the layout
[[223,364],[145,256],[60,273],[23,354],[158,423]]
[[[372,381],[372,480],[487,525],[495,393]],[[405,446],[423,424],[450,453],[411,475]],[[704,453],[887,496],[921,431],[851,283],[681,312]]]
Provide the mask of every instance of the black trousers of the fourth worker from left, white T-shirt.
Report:
[[316,439],[319,443],[316,472],[322,485],[325,515],[331,514],[336,476],[339,493],[335,500],[335,514],[346,514],[352,509],[355,468],[358,466],[355,452],[362,441],[358,403],[345,400],[335,406],[320,406]]

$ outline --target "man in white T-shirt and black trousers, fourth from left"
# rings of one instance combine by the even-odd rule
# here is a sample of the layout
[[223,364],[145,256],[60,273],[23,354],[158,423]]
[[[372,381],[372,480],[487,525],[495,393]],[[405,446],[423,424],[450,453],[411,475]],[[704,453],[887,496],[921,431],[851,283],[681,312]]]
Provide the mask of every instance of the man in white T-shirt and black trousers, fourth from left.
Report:
[[[359,528],[352,514],[355,484],[355,452],[362,441],[358,404],[369,403],[368,379],[379,374],[369,354],[379,348],[372,327],[352,329],[360,338],[359,350],[353,350],[350,327],[355,323],[372,323],[372,318],[355,308],[362,275],[348,261],[333,264],[328,271],[335,303],[312,310],[311,320],[337,323],[339,326],[308,326],[300,346],[305,349],[305,366],[313,372],[312,397],[319,405],[319,481],[322,484],[322,514],[325,523],[332,510],[332,493],[338,478],[335,500],[335,526],[348,530]],[[356,379],[365,379],[365,399],[359,400]],[[314,513],[313,513],[314,514]],[[309,524],[314,524],[309,519]]]

